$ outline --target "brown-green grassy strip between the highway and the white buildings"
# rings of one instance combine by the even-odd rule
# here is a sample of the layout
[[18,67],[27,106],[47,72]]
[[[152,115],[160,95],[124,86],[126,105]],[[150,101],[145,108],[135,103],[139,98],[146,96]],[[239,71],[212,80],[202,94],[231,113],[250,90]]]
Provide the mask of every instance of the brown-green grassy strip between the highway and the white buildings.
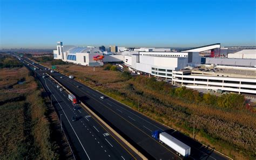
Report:
[[[49,66],[49,63],[43,63]],[[104,70],[107,69],[107,70]],[[174,89],[154,78],[131,77],[109,67],[59,65],[58,70],[135,110],[224,152],[235,159],[253,159],[256,147],[256,117],[245,108],[238,94],[216,97],[186,88]],[[101,84],[96,86],[96,84]]]

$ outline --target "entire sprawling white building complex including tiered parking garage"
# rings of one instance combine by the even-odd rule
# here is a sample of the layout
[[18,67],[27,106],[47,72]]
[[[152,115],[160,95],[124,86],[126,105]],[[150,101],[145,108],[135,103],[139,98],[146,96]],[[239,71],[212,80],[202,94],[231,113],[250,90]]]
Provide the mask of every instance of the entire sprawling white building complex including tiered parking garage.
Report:
[[[156,51],[152,51],[153,48],[137,48],[132,51],[123,50],[122,54],[104,55],[95,47],[63,46],[62,42],[57,42],[57,50],[53,50],[53,55],[54,59],[84,66],[102,66],[103,62],[124,62],[125,66],[138,74],[165,78],[174,85],[187,88],[256,94],[256,64],[253,59],[206,58],[205,64],[212,68],[226,69],[226,74],[223,71],[212,73],[191,70],[201,66],[200,52],[213,52],[215,48],[220,48],[220,43],[183,52],[170,52],[166,48],[158,48]],[[244,72],[246,74],[242,75]]]

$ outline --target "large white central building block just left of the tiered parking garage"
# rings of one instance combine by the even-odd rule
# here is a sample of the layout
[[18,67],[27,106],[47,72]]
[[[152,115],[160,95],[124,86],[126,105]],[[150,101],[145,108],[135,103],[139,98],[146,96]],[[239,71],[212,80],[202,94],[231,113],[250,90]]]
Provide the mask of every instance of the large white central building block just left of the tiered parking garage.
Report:
[[139,52],[124,55],[124,64],[139,72],[171,78],[173,70],[200,66],[201,57],[198,52]]

